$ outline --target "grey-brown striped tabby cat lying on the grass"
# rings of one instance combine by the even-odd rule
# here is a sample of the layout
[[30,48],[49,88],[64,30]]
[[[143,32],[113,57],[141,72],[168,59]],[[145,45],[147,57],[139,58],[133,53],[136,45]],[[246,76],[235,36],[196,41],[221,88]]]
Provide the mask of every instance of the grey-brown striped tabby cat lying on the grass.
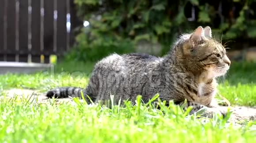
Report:
[[[147,54],[112,54],[98,61],[86,89],[60,87],[46,93],[49,98],[84,97],[94,102],[121,100],[135,103],[137,95],[147,102],[155,94],[163,101],[173,100],[187,107],[190,114],[205,108],[205,115],[226,114],[215,100],[217,81],[230,68],[226,49],[212,38],[211,28],[197,27],[192,33],[178,37],[164,57]],[[87,101],[89,101],[87,99]]]

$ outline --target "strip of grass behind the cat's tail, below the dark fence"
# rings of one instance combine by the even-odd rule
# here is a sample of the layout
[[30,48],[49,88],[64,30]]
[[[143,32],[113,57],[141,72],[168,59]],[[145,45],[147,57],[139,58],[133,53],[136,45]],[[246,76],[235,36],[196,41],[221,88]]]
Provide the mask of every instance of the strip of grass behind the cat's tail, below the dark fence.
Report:
[[56,86],[85,87],[94,63],[61,63],[54,71],[0,75],[2,89],[26,88],[47,91]]

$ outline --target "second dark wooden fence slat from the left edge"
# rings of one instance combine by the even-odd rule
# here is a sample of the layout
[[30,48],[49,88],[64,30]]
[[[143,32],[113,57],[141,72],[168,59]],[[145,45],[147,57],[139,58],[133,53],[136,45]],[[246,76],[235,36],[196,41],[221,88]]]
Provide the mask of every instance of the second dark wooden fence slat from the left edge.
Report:
[[7,7],[7,61],[15,61],[15,0],[8,0]]

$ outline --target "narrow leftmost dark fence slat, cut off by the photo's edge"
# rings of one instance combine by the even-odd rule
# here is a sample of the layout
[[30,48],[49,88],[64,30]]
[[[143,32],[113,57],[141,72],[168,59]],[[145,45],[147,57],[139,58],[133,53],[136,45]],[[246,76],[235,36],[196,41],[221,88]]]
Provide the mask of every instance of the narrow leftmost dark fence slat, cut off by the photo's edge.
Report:
[[0,0],[0,61],[4,61],[4,0]]

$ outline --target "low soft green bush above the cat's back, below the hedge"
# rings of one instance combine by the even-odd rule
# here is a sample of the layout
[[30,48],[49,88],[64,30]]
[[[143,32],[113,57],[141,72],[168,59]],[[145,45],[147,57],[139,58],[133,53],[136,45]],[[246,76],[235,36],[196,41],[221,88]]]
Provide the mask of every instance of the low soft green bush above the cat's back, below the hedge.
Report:
[[82,29],[76,36],[77,43],[74,49],[66,55],[68,61],[98,61],[112,53],[124,54],[134,51],[134,45],[130,39],[116,39],[113,36],[101,35],[91,39]]

